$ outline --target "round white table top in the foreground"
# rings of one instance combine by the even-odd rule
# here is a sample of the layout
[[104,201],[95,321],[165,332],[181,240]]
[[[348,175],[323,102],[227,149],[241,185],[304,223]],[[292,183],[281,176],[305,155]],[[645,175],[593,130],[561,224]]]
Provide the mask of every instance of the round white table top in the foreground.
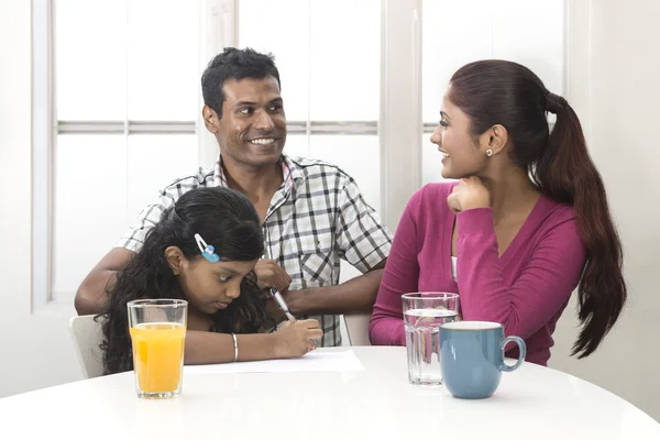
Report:
[[551,369],[461,400],[409,385],[404,348],[352,350],[365,371],[190,374],[174,400],[136,398],[132,373],[7,397],[0,439],[660,439],[632,405]]

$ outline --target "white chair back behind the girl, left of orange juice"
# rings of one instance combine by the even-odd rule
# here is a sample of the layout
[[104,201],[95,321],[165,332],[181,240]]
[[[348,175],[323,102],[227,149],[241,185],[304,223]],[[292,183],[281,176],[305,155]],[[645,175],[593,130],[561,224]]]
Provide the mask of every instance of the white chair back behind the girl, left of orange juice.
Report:
[[95,315],[85,315],[69,319],[69,330],[85,378],[99,377],[103,374],[103,355],[99,346],[101,320],[97,322],[94,317]]

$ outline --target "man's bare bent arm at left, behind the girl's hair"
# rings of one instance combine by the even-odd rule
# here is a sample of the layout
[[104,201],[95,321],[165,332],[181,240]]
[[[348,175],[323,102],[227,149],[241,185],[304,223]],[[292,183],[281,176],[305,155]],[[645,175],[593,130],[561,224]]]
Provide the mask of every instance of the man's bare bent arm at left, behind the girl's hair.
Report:
[[78,315],[97,315],[108,299],[108,289],[117,280],[117,272],[129,262],[133,252],[114,248],[106,254],[85,277],[76,292],[75,307]]

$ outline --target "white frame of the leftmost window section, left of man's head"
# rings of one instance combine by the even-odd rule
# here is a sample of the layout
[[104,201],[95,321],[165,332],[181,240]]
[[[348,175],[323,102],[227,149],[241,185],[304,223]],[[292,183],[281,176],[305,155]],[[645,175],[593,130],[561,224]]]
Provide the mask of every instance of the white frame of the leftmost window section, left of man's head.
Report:
[[[207,32],[213,32],[223,20],[230,1],[198,0],[198,7],[219,8],[220,13],[200,23]],[[59,121],[56,114],[55,56],[54,56],[54,4],[52,0],[34,0],[32,7],[32,311],[43,311],[51,306],[70,307],[75,293],[53,295],[53,239],[56,139],[61,133],[116,133],[128,136],[145,134],[196,134],[197,121]],[[200,20],[204,14],[200,14]],[[201,37],[200,43],[207,38]],[[200,56],[202,51],[200,50]],[[201,65],[200,65],[200,68]],[[198,97],[201,100],[201,94]],[[206,131],[206,130],[205,130]],[[216,158],[209,157],[208,140],[198,136],[200,165]],[[216,148],[217,151],[217,148]],[[217,156],[217,153],[216,153]]]

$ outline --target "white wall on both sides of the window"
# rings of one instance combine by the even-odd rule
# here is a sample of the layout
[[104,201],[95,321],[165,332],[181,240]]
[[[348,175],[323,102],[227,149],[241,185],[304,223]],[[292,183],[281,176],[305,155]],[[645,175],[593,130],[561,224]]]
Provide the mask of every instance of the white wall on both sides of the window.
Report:
[[[569,99],[588,129],[626,246],[628,307],[602,349],[569,358],[576,336],[566,310],[551,365],[620,395],[660,420],[660,2],[571,0],[586,7],[571,41]],[[591,8],[591,10],[588,9]],[[585,12],[584,8],[580,11]],[[579,11],[579,12],[580,12]],[[591,28],[588,23],[591,21]],[[81,377],[67,331],[70,305],[31,314],[30,2],[0,2],[0,397]],[[11,210],[11,215],[9,211]],[[648,330],[645,330],[648,329]]]

